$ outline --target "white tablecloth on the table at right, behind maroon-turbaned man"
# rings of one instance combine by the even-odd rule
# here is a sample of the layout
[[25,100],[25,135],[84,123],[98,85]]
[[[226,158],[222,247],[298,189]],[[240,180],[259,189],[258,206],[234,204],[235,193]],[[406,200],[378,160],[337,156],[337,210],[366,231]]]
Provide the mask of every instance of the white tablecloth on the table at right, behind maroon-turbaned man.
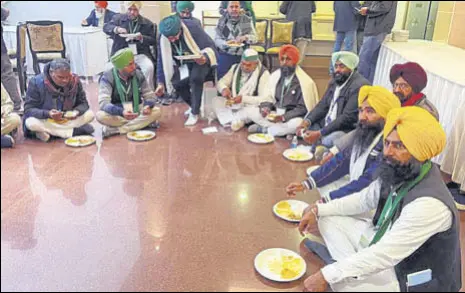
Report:
[[[438,109],[449,138],[459,109],[465,105],[465,73],[461,66],[464,60],[465,50],[447,44],[422,40],[387,42],[381,47],[374,84],[392,89],[389,71],[394,64],[420,64],[428,74],[428,85],[423,92]],[[441,164],[443,158],[444,153],[433,161]]]

